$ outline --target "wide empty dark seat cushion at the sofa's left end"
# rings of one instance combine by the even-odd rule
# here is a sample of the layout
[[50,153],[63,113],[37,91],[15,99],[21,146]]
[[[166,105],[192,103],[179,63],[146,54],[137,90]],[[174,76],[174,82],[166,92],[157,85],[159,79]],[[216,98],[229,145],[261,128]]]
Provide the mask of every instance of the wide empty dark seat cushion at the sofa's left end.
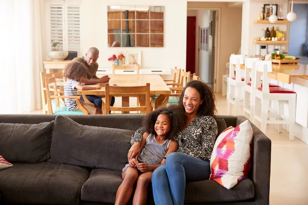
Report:
[[15,163],[0,171],[2,200],[10,203],[78,204],[89,170],[57,163]]

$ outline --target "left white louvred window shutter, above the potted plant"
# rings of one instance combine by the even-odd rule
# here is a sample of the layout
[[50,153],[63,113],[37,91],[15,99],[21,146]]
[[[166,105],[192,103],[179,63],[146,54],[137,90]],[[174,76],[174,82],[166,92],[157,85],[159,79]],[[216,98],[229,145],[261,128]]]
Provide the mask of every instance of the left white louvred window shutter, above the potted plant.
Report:
[[50,5],[50,40],[57,40],[63,50],[63,6]]

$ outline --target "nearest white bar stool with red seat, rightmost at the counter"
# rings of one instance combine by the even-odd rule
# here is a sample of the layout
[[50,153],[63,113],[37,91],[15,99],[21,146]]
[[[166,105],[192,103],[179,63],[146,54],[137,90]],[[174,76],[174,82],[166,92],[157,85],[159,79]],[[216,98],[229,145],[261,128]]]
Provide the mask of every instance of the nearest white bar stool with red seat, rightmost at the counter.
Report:
[[[261,73],[263,72],[263,81],[261,86]],[[261,131],[265,134],[267,124],[278,124],[289,126],[289,139],[294,140],[295,127],[295,111],[296,111],[296,93],[292,90],[273,87],[269,88],[268,72],[272,72],[271,60],[258,60],[256,62],[255,75],[255,111],[254,122],[258,120],[261,122]],[[261,103],[257,103],[260,100]],[[278,113],[268,113],[269,101],[278,101]],[[288,117],[283,114],[283,104],[288,104]],[[261,116],[257,115],[261,113]],[[268,119],[268,118],[274,119]],[[280,120],[277,120],[277,119]],[[281,120],[286,119],[286,120]]]

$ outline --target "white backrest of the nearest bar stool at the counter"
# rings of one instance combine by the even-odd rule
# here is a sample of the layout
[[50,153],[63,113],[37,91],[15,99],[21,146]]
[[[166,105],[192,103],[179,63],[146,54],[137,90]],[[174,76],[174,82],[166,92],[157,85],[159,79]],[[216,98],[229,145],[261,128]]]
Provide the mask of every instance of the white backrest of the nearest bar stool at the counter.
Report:
[[255,89],[261,87],[261,73],[263,73],[262,79],[262,92],[269,93],[269,84],[268,84],[268,74],[273,71],[272,61],[271,60],[258,60],[256,62],[256,85]]

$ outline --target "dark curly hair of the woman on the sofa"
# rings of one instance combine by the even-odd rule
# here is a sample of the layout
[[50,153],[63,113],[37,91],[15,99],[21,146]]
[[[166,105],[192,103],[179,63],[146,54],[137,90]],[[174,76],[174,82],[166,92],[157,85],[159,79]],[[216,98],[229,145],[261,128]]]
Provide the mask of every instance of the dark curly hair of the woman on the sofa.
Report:
[[188,87],[195,88],[199,92],[201,100],[204,100],[203,104],[200,105],[198,108],[198,114],[215,117],[215,113],[217,113],[217,110],[215,105],[216,98],[214,92],[210,89],[210,87],[208,87],[205,83],[202,83],[202,81],[200,80],[192,80],[186,84],[179,99],[179,106],[181,106],[181,108],[185,110],[185,107],[183,105],[183,97],[185,90]]

